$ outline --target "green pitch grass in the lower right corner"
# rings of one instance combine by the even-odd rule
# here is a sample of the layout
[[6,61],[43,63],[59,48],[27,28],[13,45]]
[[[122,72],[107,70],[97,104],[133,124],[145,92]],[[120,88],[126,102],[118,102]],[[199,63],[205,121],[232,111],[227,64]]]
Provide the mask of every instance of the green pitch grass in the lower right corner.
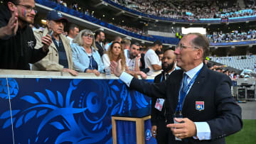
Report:
[[242,121],[242,130],[225,138],[227,144],[256,144],[256,120]]

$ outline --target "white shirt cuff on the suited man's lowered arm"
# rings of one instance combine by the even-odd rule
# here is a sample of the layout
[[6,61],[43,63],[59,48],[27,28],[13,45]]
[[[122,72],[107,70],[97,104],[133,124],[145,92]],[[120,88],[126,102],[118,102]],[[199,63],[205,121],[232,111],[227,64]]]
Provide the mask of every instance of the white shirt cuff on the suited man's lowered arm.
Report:
[[210,126],[206,122],[195,122],[196,124],[196,136],[194,139],[210,140]]

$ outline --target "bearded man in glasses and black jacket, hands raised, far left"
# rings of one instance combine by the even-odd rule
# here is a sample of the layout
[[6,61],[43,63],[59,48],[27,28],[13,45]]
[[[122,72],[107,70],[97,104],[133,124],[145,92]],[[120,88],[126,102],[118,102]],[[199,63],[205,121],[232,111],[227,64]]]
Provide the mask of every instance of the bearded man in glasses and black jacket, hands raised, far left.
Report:
[[30,70],[28,63],[38,62],[48,53],[50,35],[36,39],[29,24],[36,16],[34,0],[6,0],[0,8],[0,69]]

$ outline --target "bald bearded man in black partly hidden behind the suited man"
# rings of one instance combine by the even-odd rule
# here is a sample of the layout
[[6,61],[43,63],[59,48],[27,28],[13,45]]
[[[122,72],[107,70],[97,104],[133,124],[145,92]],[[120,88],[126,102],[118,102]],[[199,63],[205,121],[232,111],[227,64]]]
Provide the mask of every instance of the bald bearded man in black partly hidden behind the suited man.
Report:
[[[162,72],[156,75],[154,83],[159,83],[168,79],[169,74],[176,70],[176,55],[174,50],[167,49],[164,51],[162,59]],[[151,134],[156,138],[158,144],[168,143],[168,131],[165,124],[165,99],[151,99]]]

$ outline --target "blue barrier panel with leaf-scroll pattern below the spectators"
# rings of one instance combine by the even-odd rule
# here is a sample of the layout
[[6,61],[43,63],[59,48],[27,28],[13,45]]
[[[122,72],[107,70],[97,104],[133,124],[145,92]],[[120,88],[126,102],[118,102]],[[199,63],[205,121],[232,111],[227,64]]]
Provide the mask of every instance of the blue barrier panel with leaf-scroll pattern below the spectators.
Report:
[[8,144],[110,144],[111,116],[151,102],[118,79],[0,78],[0,98],[0,139]]

